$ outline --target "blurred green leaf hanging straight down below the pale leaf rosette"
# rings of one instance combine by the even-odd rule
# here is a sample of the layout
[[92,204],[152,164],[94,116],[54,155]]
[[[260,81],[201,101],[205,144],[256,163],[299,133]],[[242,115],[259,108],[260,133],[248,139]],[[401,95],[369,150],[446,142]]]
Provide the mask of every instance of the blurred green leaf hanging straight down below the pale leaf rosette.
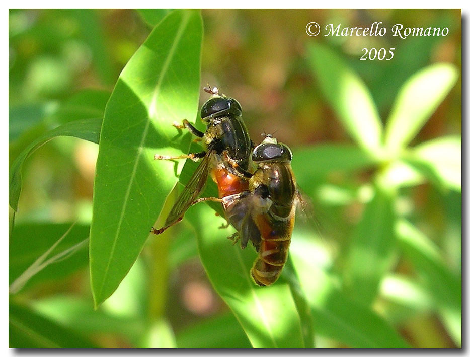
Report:
[[344,268],[348,293],[366,306],[375,299],[380,280],[390,268],[395,239],[393,192],[378,184],[374,188],[352,234]]

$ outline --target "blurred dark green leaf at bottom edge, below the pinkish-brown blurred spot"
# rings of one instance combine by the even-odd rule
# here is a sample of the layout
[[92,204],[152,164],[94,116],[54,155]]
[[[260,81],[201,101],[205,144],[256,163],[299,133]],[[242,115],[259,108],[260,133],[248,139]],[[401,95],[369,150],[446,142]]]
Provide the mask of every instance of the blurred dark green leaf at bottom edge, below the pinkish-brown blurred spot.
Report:
[[176,335],[176,343],[178,348],[251,348],[232,313],[217,315],[185,328]]

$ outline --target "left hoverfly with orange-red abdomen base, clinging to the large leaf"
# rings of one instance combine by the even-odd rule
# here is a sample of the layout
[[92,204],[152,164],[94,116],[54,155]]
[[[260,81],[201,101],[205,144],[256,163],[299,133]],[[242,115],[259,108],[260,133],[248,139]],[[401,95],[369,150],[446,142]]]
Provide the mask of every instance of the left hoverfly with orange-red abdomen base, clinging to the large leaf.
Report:
[[219,95],[217,87],[204,87],[204,91],[212,95],[201,108],[201,119],[207,125],[206,131],[199,131],[186,119],[182,125],[173,125],[185,128],[201,138],[205,151],[174,157],[155,155],[156,160],[202,161],[173,205],[164,226],[160,229],[152,227],[151,232],[154,234],[164,232],[183,219],[186,210],[195,203],[204,188],[209,172],[217,184],[220,197],[248,189],[248,178],[251,177],[248,170],[254,143],[242,120],[242,107],[237,100]]

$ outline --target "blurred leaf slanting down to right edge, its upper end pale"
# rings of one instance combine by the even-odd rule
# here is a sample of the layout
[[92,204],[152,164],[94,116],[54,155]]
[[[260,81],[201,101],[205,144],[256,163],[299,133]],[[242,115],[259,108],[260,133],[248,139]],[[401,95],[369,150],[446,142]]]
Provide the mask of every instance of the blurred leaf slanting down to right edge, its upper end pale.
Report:
[[461,316],[461,278],[446,267],[439,249],[406,220],[400,220],[395,230],[400,248],[424,280],[437,306]]

